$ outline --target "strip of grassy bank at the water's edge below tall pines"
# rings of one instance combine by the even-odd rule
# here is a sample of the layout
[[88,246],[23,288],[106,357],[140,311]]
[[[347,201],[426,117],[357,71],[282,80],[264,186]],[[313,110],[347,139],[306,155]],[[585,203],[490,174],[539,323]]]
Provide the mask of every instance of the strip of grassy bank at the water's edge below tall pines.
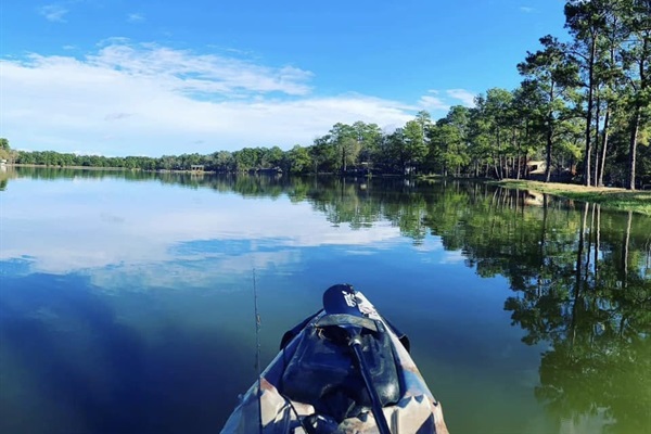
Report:
[[533,190],[576,201],[598,203],[607,208],[631,210],[651,216],[651,191],[630,191],[611,187],[584,187],[514,179],[505,179],[492,183],[508,189]]

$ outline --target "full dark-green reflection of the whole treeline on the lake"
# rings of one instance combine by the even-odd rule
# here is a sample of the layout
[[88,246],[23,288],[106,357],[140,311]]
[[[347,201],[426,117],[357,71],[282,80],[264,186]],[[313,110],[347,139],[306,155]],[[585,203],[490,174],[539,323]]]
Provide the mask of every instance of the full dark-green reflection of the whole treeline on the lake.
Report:
[[[505,302],[527,345],[547,344],[536,398],[559,432],[651,426],[651,218],[485,183],[21,169],[20,177],[124,177],[243,196],[308,202],[332,225],[380,221],[421,243],[438,237],[482,277],[505,276]],[[3,188],[11,181],[3,180]],[[590,431],[590,430],[588,430]]]

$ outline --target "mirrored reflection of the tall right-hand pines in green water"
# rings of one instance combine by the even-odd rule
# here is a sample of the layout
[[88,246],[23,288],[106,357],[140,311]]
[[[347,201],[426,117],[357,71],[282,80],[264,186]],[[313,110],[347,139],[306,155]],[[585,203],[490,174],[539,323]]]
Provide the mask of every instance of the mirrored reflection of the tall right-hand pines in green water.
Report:
[[579,212],[573,263],[566,257],[556,268],[548,255],[557,244],[542,237],[548,255],[539,257],[539,275],[512,285],[518,294],[505,308],[526,330],[525,343],[550,344],[536,397],[559,421],[579,424],[590,416],[603,419],[608,432],[644,432],[651,408],[648,240],[646,251],[631,246],[630,213],[602,240],[600,207],[583,204]]

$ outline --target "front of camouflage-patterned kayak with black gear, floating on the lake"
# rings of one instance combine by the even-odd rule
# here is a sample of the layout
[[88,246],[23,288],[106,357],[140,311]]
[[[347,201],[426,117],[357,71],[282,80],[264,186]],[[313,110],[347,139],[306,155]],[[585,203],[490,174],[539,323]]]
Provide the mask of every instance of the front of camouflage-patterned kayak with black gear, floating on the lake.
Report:
[[281,340],[221,434],[448,434],[409,340],[348,284]]

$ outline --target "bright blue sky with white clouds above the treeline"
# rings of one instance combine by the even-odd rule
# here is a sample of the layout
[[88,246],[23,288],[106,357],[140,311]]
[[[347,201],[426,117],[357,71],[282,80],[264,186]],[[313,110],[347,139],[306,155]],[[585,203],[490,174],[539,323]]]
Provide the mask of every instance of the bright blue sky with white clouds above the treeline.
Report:
[[513,89],[562,0],[5,0],[0,136],[15,149],[212,153],[390,131]]

